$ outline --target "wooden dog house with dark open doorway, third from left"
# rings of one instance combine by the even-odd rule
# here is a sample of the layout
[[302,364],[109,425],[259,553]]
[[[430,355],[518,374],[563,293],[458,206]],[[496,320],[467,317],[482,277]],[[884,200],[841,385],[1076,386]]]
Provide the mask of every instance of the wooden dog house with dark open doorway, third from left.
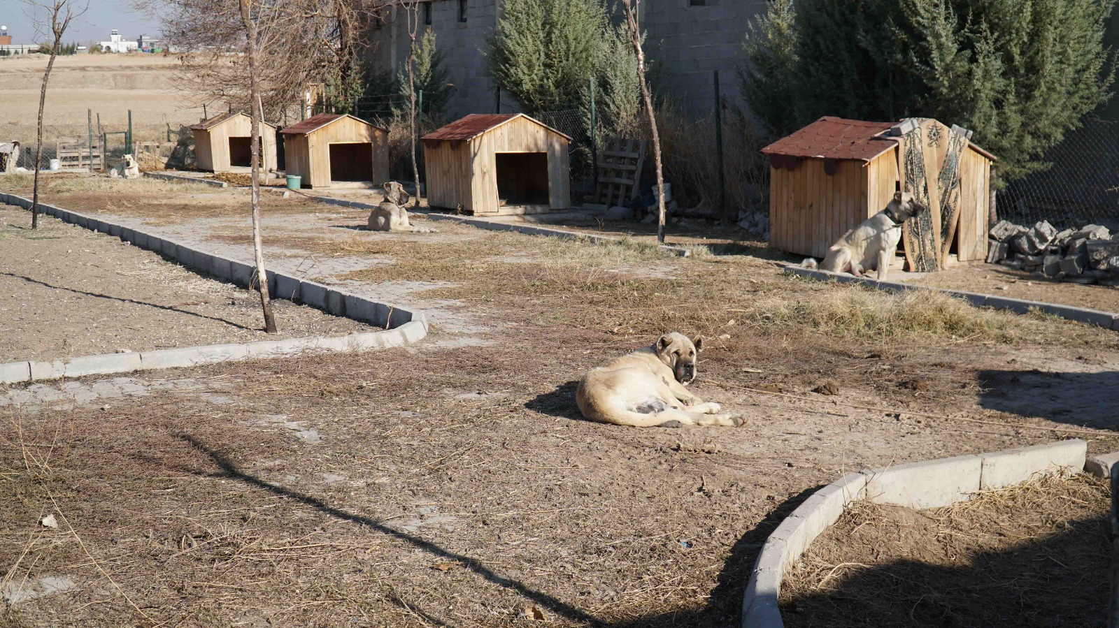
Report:
[[427,203],[490,216],[567,209],[570,143],[525,114],[470,114],[423,136]]

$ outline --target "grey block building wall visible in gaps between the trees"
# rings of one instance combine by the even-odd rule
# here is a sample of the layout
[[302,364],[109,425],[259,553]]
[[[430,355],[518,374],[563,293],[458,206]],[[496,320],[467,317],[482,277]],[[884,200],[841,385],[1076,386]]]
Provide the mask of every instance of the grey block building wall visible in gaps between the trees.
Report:
[[[722,93],[737,96],[735,68],[750,18],[765,10],[765,0],[645,0],[642,23],[648,32],[650,60],[659,65],[656,85],[696,113],[714,108],[714,70]],[[458,89],[448,103],[448,116],[495,113],[496,84],[483,50],[497,26],[500,0],[467,0],[467,21],[459,21],[459,0],[432,0],[432,25],[439,48],[446,55],[449,79]],[[367,59],[379,70],[398,68],[407,59],[408,35],[402,10],[394,9],[380,28],[368,34]],[[508,96],[506,96],[508,98]],[[508,102],[508,99],[506,101]]]

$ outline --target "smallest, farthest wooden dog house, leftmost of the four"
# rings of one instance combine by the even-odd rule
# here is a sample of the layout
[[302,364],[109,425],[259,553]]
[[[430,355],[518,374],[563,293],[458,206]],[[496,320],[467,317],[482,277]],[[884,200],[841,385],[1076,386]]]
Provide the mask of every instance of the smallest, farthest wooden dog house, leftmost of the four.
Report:
[[[253,120],[244,113],[224,113],[190,127],[195,134],[198,170],[235,172],[252,168]],[[276,127],[261,124],[261,170],[276,168]]]

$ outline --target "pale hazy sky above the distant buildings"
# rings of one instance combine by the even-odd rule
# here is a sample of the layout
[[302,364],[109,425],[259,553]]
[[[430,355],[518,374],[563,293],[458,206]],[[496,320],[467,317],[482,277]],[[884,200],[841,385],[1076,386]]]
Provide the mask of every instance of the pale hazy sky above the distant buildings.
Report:
[[[86,0],[79,0],[84,2]],[[126,39],[135,39],[140,35],[159,36],[159,25],[133,8],[130,0],[87,0],[90,10],[73,23],[66,36],[66,41],[101,41],[109,39],[109,31],[117,29]],[[0,25],[8,27],[8,34],[16,44],[31,44],[45,40],[35,34],[34,20],[28,17],[41,18],[44,10],[32,8],[21,0],[0,0]]]

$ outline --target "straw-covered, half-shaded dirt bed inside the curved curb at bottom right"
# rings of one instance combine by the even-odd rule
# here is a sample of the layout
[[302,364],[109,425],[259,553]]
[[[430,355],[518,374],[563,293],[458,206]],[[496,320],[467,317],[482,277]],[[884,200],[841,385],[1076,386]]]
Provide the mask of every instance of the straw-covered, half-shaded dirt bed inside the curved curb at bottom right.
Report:
[[1083,474],[933,511],[858,504],[786,575],[786,626],[1104,626],[1109,508]]

